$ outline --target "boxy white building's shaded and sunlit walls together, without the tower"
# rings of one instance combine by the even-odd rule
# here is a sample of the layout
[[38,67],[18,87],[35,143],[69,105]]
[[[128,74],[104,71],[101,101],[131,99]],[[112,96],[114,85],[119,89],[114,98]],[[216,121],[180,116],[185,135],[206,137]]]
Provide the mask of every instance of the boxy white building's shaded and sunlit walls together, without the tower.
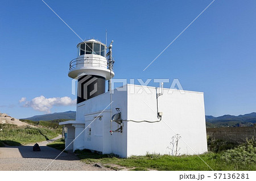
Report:
[[[156,88],[127,85],[125,91],[114,90],[112,95],[112,115],[120,108],[123,120],[156,121]],[[178,147],[180,154],[201,154],[207,151],[207,137],[205,128],[204,94],[203,92],[164,89],[159,96],[159,112],[163,112],[162,121],[158,123],[134,123],[123,121],[123,132],[110,135],[110,94],[98,95],[85,102],[77,104],[76,121],[88,127],[92,120],[101,113],[101,120],[96,119],[86,128],[81,138],[74,141],[73,150],[90,149],[101,151],[103,154],[118,154],[120,157],[131,155],[145,155],[146,153],[171,154],[171,137],[180,134]],[[169,92],[170,93],[170,92]],[[75,121],[75,122],[76,122]],[[68,122],[68,121],[67,121]],[[64,124],[64,123],[61,123]],[[75,125],[72,124],[72,125]],[[70,127],[70,125],[69,125]],[[74,127],[68,130],[68,138],[73,137]],[[75,134],[81,132],[81,125]],[[79,130],[78,130],[79,129]],[[117,123],[113,122],[113,131]],[[71,134],[72,133],[72,134]],[[66,140],[66,142],[70,140]],[[82,145],[82,146],[81,146]]]

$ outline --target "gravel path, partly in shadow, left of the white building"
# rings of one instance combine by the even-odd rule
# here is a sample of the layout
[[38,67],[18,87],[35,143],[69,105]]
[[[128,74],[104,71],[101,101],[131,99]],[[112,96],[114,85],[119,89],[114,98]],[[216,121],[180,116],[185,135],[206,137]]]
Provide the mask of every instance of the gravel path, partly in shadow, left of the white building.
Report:
[[0,170],[44,170],[47,166],[46,170],[109,170],[83,163],[73,153],[61,153],[46,146],[57,139],[59,137],[38,143],[41,151],[33,151],[34,144],[0,147]]

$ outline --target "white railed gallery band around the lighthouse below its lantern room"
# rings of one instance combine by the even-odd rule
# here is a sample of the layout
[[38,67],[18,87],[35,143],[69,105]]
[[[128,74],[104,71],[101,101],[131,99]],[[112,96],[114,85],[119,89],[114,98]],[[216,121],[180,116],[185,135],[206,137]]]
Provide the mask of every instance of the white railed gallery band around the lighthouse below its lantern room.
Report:
[[108,69],[108,61],[99,57],[79,57],[71,60],[69,63],[69,70],[92,66]]

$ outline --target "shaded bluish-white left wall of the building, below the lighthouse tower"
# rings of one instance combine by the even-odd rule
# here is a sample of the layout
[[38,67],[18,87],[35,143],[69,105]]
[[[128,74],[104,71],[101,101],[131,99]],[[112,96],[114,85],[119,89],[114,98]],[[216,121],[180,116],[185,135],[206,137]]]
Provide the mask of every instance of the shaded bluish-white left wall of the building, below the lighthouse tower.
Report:
[[[114,90],[112,97],[113,114],[117,113],[115,108],[119,107],[122,110],[122,115],[127,117],[127,91]],[[114,153],[121,157],[127,157],[127,123],[125,123],[123,133],[113,133],[113,135],[110,135],[110,106],[106,108],[109,104],[109,92],[77,104],[76,120],[85,121],[85,128],[92,123],[95,117],[101,116],[101,120],[97,118],[89,125],[91,129],[90,135],[88,132],[89,128],[85,129],[84,149],[101,151],[103,154]],[[105,108],[106,110],[102,112]],[[117,129],[117,124],[113,123],[113,130],[115,129]]]

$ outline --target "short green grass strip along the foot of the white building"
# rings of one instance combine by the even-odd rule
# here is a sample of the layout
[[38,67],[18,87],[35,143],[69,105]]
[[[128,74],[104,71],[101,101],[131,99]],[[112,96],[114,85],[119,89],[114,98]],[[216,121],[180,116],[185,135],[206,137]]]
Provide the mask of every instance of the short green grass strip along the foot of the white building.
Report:
[[[86,162],[100,162],[102,164],[114,164],[131,170],[210,170],[204,162],[197,156],[180,156],[170,155],[132,156],[130,158],[118,158],[113,155],[100,155],[90,153],[89,151],[77,151],[79,158]],[[212,154],[201,155],[203,159],[214,163]],[[215,165],[215,163],[214,163]]]

